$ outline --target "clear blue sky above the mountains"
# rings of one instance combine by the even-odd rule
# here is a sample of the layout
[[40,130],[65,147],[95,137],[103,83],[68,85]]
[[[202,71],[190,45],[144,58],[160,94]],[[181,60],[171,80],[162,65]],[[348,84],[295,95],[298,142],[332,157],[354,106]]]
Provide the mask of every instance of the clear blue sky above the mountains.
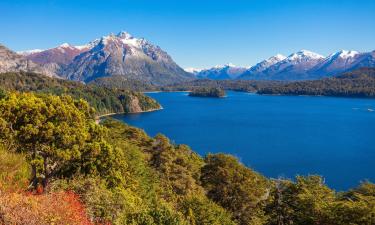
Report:
[[375,50],[375,1],[0,1],[0,43],[16,51],[121,30],[159,45],[182,67],[253,65],[300,49]]

